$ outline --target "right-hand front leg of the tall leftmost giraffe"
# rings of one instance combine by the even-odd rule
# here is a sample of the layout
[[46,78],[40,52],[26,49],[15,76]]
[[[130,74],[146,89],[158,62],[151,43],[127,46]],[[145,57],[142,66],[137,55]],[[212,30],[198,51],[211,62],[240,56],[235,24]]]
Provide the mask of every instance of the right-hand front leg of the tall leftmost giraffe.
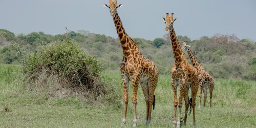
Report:
[[138,77],[136,76],[132,80],[133,82],[133,108],[134,108],[134,114],[133,114],[133,127],[137,126],[137,92],[138,92]]

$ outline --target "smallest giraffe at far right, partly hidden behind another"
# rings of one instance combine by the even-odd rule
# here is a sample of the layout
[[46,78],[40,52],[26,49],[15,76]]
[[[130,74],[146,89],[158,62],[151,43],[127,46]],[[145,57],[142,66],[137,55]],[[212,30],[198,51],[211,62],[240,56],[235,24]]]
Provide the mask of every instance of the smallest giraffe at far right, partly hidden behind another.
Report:
[[190,50],[191,47],[190,45],[187,45],[187,41],[183,42],[182,49],[186,50],[189,58],[193,64],[193,66],[197,69],[198,71],[198,76],[199,76],[199,86],[200,86],[200,103],[198,108],[200,109],[201,107],[201,98],[202,98],[202,92],[204,92],[204,107],[205,107],[205,101],[207,98],[207,89],[209,88],[210,92],[210,107],[211,107],[211,98],[212,98],[212,91],[214,90],[214,79],[211,77],[211,75],[206,72],[203,68],[203,66],[197,61],[197,58],[194,56],[193,52]]

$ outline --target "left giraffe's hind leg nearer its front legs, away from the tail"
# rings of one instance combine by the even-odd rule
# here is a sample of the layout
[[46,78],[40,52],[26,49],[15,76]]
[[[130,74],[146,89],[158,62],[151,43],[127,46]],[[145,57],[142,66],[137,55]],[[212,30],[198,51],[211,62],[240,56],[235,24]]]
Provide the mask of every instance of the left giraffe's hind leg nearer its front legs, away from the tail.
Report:
[[148,119],[148,111],[149,111],[149,106],[150,106],[150,97],[148,94],[148,81],[140,82],[145,101],[146,101],[146,124],[147,124],[147,119]]

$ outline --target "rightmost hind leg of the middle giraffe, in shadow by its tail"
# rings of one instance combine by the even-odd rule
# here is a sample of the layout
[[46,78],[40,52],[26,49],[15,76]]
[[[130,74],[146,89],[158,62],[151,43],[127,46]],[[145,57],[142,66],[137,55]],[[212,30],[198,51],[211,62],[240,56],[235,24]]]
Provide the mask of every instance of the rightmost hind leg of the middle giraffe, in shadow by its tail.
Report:
[[198,82],[194,82],[193,85],[192,85],[192,88],[191,88],[194,125],[197,125],[197,123],[196,123],[196,113],[195,113],[197,91],[198,91]]

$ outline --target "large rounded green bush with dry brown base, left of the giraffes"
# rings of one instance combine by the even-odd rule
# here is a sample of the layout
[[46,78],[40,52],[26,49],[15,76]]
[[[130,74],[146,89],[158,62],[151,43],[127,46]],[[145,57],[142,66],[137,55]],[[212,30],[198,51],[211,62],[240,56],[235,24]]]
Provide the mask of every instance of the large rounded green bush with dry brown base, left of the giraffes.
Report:
[[29,90],[48,91],[57,97],[78,95],[89,102],[115,95],[115,90],[109,91],[113,83],[100,76],[102,70],[101,62],[80,50],[71,39],[44,46],[23,62]]

